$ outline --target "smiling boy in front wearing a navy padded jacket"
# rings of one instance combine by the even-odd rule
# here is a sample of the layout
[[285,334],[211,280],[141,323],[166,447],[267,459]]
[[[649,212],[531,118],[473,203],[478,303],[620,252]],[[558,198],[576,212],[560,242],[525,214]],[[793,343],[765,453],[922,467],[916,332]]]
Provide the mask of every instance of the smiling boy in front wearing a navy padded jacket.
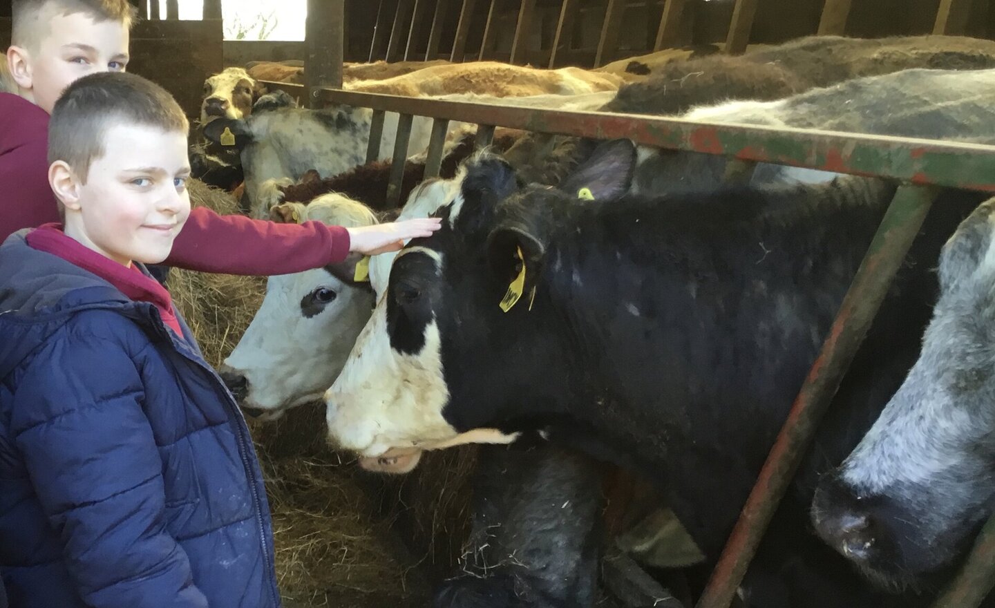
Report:
[[50,124],[65,228],[0,246],[11,606],[280,605],[245,421],[142,267],[170,255],[190,214],[186,127],[144,79],[78,80]]

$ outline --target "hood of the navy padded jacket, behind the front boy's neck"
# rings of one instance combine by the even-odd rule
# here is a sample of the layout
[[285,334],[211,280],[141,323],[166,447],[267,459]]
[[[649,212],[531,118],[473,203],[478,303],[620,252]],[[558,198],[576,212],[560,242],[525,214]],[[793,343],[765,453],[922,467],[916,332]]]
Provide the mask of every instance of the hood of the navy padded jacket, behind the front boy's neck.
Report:
[[131,302],[100,277],[58,256],[32,249],[27,233],[16,232],[0,245],[0,377],[75,312],[116,308],[141,317],[143,303]]

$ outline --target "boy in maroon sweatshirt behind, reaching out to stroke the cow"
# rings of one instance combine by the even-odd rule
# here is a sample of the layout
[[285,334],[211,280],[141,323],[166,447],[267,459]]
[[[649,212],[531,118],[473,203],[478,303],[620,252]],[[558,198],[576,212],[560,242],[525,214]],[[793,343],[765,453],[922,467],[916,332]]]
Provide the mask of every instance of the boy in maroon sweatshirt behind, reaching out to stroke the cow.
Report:
[[[127,0],[14,0],[7,66],[18,95],[0,93],[0,242],[22,228],[60,220],[45,160],[48,112],[78,78],[123,72],[135,9]],[[285,275],[367,252],[405,224],[363,228],[320,222],[276,224],[194,209],[165,263],[233,275]],[[396,249],[397,245],[391,246]]]

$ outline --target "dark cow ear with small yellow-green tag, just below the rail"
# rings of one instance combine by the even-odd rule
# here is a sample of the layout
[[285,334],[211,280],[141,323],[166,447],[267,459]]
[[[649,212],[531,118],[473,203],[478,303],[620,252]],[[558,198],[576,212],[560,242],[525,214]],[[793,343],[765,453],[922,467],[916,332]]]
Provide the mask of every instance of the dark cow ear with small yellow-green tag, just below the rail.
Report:
[[625,194],[636,168],[636,145],[629,139],[604,141],[560,184],[578,198],[606,200]]

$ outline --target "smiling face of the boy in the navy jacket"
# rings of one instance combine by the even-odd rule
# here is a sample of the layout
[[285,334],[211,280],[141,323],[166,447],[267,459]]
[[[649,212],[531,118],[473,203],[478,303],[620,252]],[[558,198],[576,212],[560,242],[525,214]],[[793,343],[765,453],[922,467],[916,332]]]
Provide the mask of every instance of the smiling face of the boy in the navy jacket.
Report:
[[106,131],[104,146],[86,184],[75,176],[72,183],[61,181],[58,162],[50,169],[53,189],[66,205],[66,234],[125,266],[158,264],[190,214],[186,134],[118,125]]

